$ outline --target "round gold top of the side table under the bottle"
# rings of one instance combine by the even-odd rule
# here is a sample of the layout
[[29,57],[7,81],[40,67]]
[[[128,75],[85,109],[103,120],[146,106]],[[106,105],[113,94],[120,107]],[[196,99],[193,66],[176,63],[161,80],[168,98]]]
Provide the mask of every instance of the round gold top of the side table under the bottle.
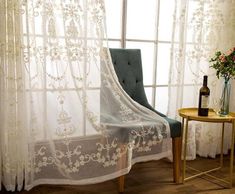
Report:
[[216,114],[212,109],[209,109],[208,116],[198,116],[197,108],[181,108],[178,110],[179,115],[188,120],[204,121],[204,122],[232,122],[235,120],[235,113],[230,112],[226,116]]

